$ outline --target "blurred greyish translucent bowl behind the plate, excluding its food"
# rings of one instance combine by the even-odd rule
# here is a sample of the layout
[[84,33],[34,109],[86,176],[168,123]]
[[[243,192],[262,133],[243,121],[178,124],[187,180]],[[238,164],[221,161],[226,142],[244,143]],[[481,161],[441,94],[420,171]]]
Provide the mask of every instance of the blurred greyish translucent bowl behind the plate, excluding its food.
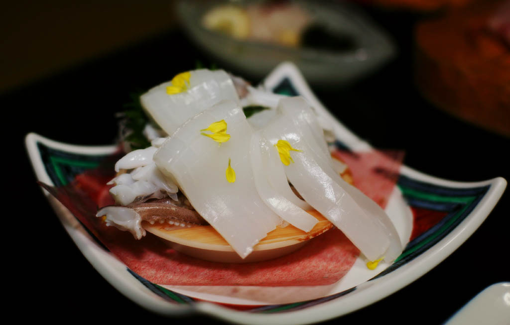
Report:
[[[262,78],[278,63],[291,61],[312,85],[342,85],[361,77],[394,56],[390,38],[351,4],[296,2],[314,16],[331,35],[347,36],[353,47],[331,51],[313,47],[287,47],[261,41],[238,40],[206,29],[202,16],[225,1],[181,1],[177,12],[189,37],[225,67]],[[236,1],[238,5],[253,1]]]

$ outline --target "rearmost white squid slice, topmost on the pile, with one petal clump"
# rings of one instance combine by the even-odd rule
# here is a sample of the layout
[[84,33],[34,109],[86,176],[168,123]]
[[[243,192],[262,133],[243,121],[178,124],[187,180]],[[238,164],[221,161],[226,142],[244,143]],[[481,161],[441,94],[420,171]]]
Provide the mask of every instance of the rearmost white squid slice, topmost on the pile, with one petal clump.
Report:
[[186,91],[169,95],[171,82],[150,89],[140,97],[145,111],[169,135],[196,114],[223,99],[239,103],[239,96],[230,76],[223,70],[190,71]]

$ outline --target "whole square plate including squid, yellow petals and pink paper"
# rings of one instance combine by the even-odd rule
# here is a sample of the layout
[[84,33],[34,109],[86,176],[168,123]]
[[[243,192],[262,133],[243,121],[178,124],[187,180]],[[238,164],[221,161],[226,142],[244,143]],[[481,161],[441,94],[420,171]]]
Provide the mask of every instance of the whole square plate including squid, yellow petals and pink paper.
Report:
[[[361,308],[441,262],[504,189],[502,179],[452,183],[401,166],[402,151],[374,150],[353,136],[290,63],[257,87],[196,70],[136,99],[113,145],[73,146],[31,133],[27,148],[84,256],[155,312],[207,306],[225,319],[275,320],[294,311],[302,318],[306,309],[320,320],[328,310],[326,317]],[[458,205],[460,195],[469,201]],[[452,211],[420,205],[453,200]],[[405,250],[394,260],[395,228]],[[253,259],[292,231],[303,236],[289,247],[299,248]],[[177,248],[175,234],[190,233],[193,243],[207,244],[195,246],[202,255]],[[208,241],[213,234],[221,245]],[[242,263],[209,258],[215,245]]]

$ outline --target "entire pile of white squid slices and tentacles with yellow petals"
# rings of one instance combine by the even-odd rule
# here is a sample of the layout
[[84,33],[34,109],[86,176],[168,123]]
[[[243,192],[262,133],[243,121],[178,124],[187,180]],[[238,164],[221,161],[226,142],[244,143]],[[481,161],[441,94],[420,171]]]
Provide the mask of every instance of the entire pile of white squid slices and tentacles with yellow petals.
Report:
[[[150,146],[115,165],[115,205],[96,216],[137,239],[152,225],[210,225],[245,259],[268,233],[311,232],[320,215],[369,265],[402,252],[386,212],[341,174],[327,123],[301,96],[254,88],[223,70],[177,74],[140,97]],[[243,107],[262,111],[246,117]],[[369,266],[371,267],[371,266]]]

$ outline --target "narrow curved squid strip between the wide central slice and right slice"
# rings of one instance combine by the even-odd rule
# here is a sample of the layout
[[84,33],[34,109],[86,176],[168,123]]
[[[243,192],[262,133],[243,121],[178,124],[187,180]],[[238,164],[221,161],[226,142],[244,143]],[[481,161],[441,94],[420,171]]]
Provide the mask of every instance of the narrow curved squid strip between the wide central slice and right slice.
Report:
[[[269,164],[269,148],[268,143],[261,137],[260,132],[254,132],[251,136],[251,149],[250,160],[251,168],[253,170],[253,179],[255,186],[261,199],[267,204],[274,213],[281,216],[281,218],[291,225],[299,228],[305,232],[309,232],[317,224],[317,219],[311,214],[304,211],[302,208],[294,204],[291,200],[285,198],[281,193],[271,185],[271,176],[268,171],[274,169]],[[279,167],[279,166],[278,166]],[[283,169],[282,169],[283,171]],[[284,176],[283,173],[281,173]],[[283,177],[283,181],[292,192],[287,182],[287,178]],[[294,193],[291,195],[298,201],[304,202],[297,198]],[[308,204],[307,204],[308,205]]]

